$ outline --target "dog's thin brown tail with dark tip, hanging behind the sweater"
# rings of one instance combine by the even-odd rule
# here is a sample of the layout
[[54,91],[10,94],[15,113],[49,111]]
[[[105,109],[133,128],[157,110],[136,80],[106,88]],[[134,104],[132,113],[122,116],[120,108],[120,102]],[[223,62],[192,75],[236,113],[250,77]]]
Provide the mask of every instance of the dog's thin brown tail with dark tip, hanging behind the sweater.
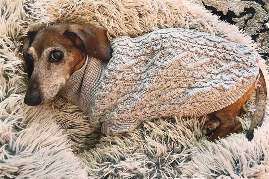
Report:
[[247,131],[247,139],[249,141],[251,141],[253,138],[254,129],[257,126],[262,125],[262,119],[263,119],[265,107],[266,107],[267,89],[266,89],[265,79],[264,79],[261,69],[259,70],[259,73],[260,73],[260,77],[259,77],[258,86],[256,89],[256,111],[253,114],[250,127]]

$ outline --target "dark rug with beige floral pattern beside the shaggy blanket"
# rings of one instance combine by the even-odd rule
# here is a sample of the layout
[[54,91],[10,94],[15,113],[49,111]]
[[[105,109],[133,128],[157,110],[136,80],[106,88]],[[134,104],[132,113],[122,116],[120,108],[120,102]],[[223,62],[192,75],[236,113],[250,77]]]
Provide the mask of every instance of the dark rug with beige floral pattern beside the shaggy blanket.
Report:
[[261,48],[260,54],[269,65],[268,0],[194,0],[221,20],[236,24]]

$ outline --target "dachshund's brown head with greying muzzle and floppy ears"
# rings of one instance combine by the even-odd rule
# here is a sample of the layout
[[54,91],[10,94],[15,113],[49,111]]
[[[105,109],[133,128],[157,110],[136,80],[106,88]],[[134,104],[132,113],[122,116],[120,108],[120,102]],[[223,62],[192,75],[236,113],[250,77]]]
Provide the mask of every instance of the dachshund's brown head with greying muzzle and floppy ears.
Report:
[[56,24],[28,32],[23,53],[30,83],[24,103],[36,106],[51,101],[86,55],[109,61],[106,30],[88,24]]

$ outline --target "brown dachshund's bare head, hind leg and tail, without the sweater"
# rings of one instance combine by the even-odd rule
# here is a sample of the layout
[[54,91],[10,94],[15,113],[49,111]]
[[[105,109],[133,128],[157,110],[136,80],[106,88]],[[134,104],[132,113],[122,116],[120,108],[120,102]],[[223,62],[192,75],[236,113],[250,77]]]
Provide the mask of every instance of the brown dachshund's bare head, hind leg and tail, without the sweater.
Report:
[[[108,62],[112,54],[103,27],[74,23],[55,24],[28,32],[22,50],[30,78],[24,103],[30,106],[51,101],[69,77],[83,66],[87,55]],[[252,140],[254,129],[262,124],[266,106],[267,89],[261,70],[257,84],[254,83],[235,103],[208,114],[210,120],[203,133],[211,135],[214,132],[210,141],[242,130],[236,116],[240,115],[244,103],[256,88],[256,111],[246,135],[249,141]]]

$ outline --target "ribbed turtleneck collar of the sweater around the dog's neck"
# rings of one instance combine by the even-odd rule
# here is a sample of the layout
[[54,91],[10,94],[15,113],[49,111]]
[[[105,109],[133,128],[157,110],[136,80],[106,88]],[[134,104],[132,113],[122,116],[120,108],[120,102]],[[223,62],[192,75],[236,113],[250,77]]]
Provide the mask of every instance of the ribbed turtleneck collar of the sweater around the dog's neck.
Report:
[[[99,90],[106,66],[107,63],[87,55],[82,68],[70,76],[59,91],[59,95],[64,96],[88,114],[94,95]],[[84,75],[85,73],[87,75]],[[81,94],[83,94],[83,97]]]

